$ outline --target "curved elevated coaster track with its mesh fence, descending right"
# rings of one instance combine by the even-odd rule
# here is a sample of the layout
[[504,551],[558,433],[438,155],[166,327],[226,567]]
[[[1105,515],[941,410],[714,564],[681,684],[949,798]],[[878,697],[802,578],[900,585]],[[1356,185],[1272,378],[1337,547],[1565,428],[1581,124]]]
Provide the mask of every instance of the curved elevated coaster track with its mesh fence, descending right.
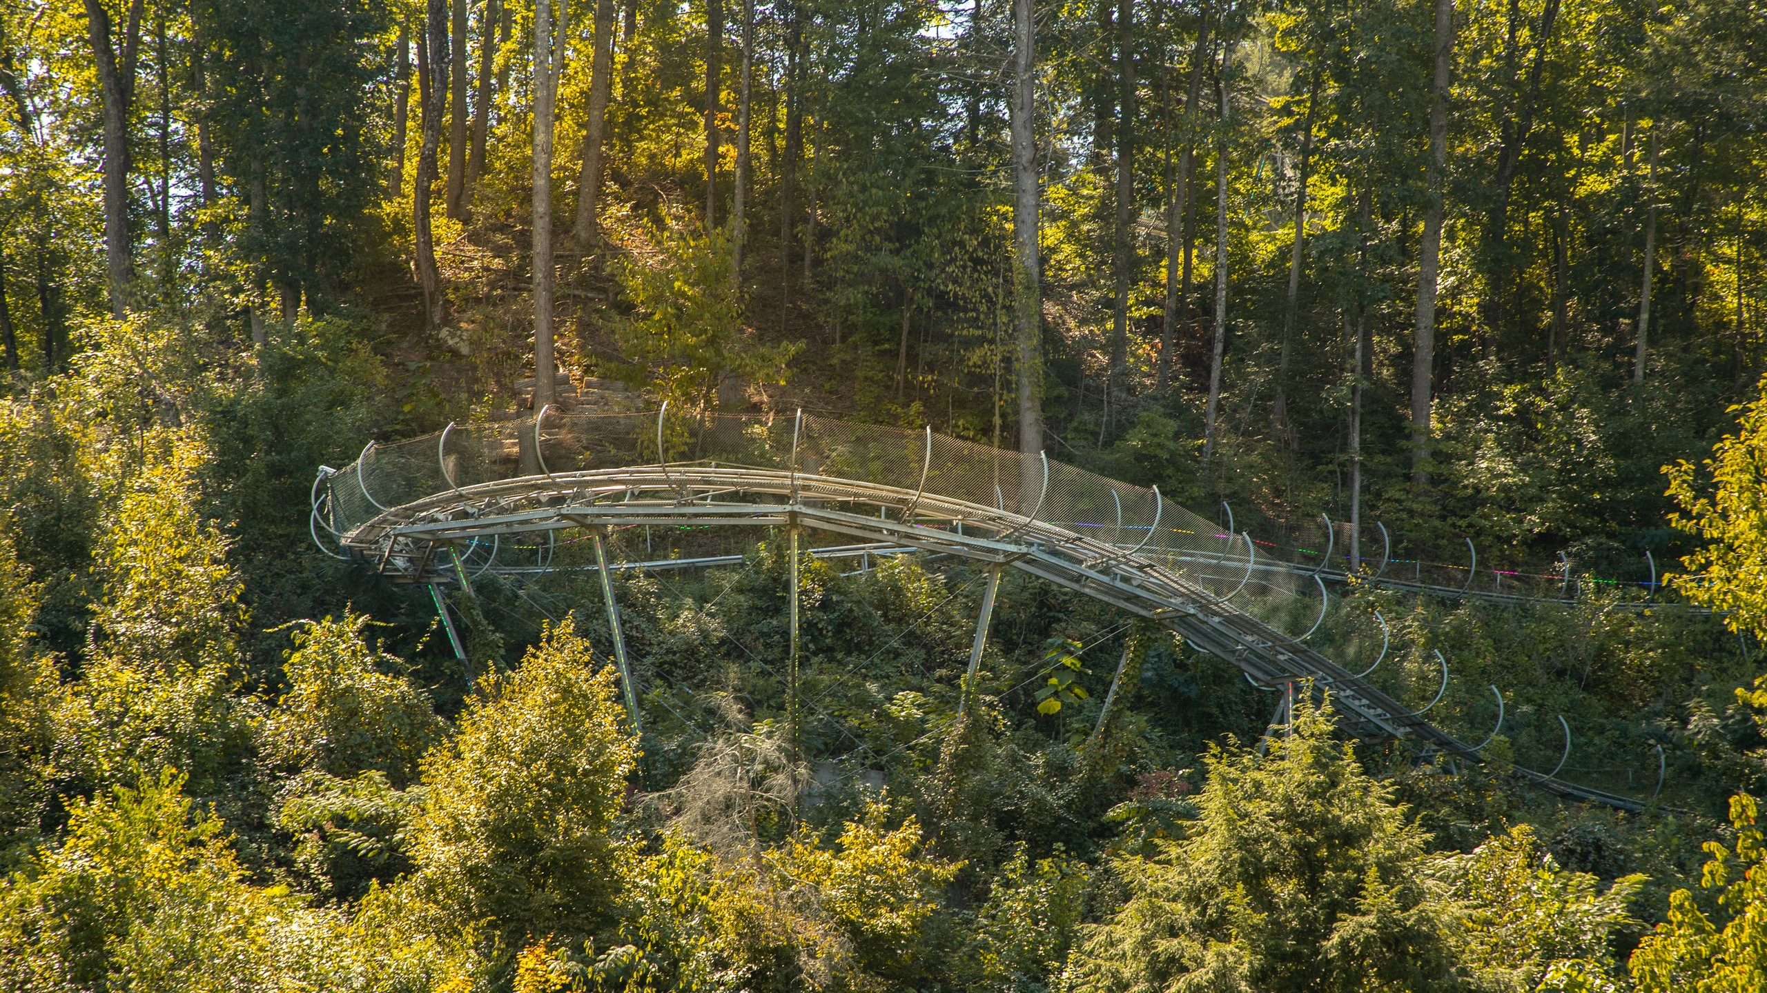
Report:
[[[334,555],[394,581],[451,581],[459,562],[484,569],[500,555],[521,571],[544,569],[557,532],[604,535],[629,525],[815,530],[1018,569],[1150,618],[1260,686],[1329,691],[1357,737],[1481,762],[1479,746],[1249,610],[1260,597],[1288,595],[1295,578],[1260,569],[1269,562],[1249,535],[1223,532],[1157,489],[931,429],[802,413],[671,419],[666,406],[542,408],[518,422],[369,443],[355,463],[322,468],[315,481],[315,541],[329,532],[341,548]],[[516,562],[521,555],[528,560]],[[1567,799],[1642,807],[1516,772]]]

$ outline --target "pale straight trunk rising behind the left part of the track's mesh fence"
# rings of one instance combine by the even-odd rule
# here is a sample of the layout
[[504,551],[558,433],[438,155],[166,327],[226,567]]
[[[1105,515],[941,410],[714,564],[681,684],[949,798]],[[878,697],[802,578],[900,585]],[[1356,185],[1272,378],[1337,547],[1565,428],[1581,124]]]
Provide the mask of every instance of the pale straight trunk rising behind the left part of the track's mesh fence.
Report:
[[551,0],[534,2],[534,410],[558,399],[551,300],[551,155],[553,102],[558,99],[569,32],[569,0],[558,0],[557,34],[551,27]]

